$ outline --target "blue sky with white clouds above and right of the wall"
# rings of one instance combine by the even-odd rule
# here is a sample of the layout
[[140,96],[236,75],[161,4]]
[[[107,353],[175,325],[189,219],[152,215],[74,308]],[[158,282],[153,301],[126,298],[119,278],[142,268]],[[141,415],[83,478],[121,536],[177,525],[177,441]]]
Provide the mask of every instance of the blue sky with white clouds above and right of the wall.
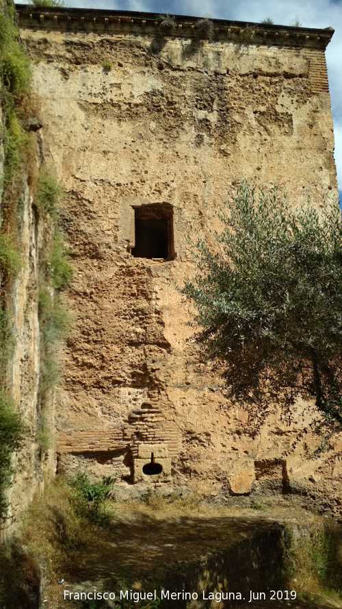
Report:
[[302,27],[332,26],[335,33],[326,49],[326,62],[334,122],[334,155],[342,201],[342,0],[66,0],[66,5],[198,17],[210,15],[216,19],[250,23],[259,23],[269,17],[276,25],[291,25],[298,19]]

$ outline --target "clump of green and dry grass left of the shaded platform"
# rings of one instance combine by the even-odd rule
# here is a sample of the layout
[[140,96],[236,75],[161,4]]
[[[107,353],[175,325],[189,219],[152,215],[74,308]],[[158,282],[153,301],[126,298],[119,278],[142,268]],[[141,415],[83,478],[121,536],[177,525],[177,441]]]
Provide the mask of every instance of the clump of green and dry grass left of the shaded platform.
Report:
[[[36,497],[23,516],[19,525],[19,536],[12,549],[12,555],[16,556],[11,571],[18,571],[20,554],[24,555],[23,560],[28,566],[27,571],[31,572],[32,580],[34,573],[39,573],[41,565],[44,564],[45,594],[50,601],[55,600],[57,604],[57,601],[60,601],[61,587],[58,580],[61,574],[72,572],[73,566],[84,560],[84,549],[89,551],[91,548],[96,551],[99,529],[94,522],[101,525],[105,522],[105,510],[99,506],[103,506],[103,497],[109,486],[106,481],[90,483],[85,474],[78,475],[69,482],[57,476],[52,484],[46,486],[44,497]],[[94,499],[91,500],[91,497]],[[98,501],[96,509],[92,505],[94,501]],[[89,509],[86,504],[89,504]],[[3,551],[6,556],[3,557],[3,564],[0,556],[0,588],[1,574],[6,572],[5,567],[9,564],[11,555],[10,549],[5,551],[3,548]],[[12,590],[8,588],[10,581],[8,574],[3,583],[7,588],[6,593],[13,594],[18,586],[23,585],[25,577],[23,573],[16,573]],[[5,597],[1,600],[4,601]],[[25,603],[21,606],[31,607]],[[73,606],[70,603],[70,607]]]

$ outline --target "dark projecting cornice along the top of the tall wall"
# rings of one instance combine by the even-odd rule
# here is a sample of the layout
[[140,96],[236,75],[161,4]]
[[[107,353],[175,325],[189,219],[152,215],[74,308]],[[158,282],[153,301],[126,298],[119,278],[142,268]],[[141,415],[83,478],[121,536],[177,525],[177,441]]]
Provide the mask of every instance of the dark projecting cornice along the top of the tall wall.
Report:
[[[172,16],[173,26],[161,27],[157,13],[88,10],[83,8],[47,8],[16,5],[20,27],[57,30],[62,32],[94,32],[98,34],[146,34],[174,38],[208,38],[198,27],[200,18]],[[213,40],[240,45],[277,45],[325,49],[334,34],[332,27],[291,27],[246,21],[212,19]]]

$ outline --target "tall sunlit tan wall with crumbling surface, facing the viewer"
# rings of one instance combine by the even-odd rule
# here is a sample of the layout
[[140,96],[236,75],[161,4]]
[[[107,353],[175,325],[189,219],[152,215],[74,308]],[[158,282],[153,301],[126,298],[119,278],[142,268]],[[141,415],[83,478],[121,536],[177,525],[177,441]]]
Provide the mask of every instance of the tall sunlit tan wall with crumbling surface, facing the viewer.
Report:
[[[335,455],[309,461],[302,443],[290,450],[310,422],[304,403],[291,423],[271,408],[260,433],[246,434],[246,412],[196,364],[176,289],[194,271],[185,235],[215,226],[235,177],[278,182],[291,200],[311,195],[317,206],[322,191],[336,194],[330,34],[263,26],[254,36],[220,22],[213,40],[200,40],[180,19],[168,36],[146,15],[19,16],[44,155],[68,191],[75,327],[57,395],[60,467],[81,462],[122,484],[147,483],[142,447],[155,446],[154,460],[168,460],[159,484],[170,484],[171,468],[174,482],[214,495],[305,487],[337,499]],[[134,210],[151,203],[173,211],[173,260],[132,256]]]

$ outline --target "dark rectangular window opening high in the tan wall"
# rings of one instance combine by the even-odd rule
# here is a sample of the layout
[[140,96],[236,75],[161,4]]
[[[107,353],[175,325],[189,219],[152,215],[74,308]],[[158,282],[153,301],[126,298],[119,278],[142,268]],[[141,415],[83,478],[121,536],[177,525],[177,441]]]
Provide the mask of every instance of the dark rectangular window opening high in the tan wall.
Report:
[[170,205],[146,205],[135,208],[135,258],[172,260],[173,223]]

